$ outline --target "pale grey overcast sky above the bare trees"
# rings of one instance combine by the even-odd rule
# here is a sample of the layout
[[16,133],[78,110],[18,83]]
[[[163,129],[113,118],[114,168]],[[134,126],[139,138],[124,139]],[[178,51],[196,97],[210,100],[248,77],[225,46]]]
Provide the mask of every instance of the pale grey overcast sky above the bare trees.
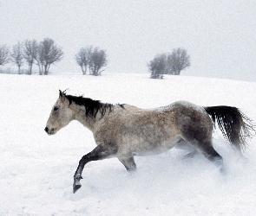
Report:
[[1,45],[49,37],[62,48],[52,73],[80,73],[74,57],[89,45],[106,50],[109,73],[147,73],[156,54],[181,47],[182,75],[256,81],[253,0],[0,0],[0,11]]

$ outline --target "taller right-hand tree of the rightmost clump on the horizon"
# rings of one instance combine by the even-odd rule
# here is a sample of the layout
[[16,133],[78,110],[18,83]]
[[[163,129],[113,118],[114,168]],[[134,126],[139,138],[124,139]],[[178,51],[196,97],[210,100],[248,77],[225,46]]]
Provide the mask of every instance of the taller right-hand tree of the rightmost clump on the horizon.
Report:
[[184,48],[176,48],[172,54],[167,57],[168,73],[174,75],[180,75],[181,70],[186,67],[190,67],[190,56],[187,54],[187,50]]

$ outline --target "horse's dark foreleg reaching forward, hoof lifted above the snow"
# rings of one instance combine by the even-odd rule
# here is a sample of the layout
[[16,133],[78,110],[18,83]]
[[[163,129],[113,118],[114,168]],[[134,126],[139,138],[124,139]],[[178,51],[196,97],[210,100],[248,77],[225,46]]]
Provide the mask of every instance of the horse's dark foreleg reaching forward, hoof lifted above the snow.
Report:
[[112,143],[103,143],[98,145],[95,149],[89,152],[87,155],[82,156],[79,165],[75,171],[73,193],[82,187],[80,180],[82,179],[82,169],[85,164],[92,161],[98,161],[110,156],[115,156],[117,153],[117,146]]

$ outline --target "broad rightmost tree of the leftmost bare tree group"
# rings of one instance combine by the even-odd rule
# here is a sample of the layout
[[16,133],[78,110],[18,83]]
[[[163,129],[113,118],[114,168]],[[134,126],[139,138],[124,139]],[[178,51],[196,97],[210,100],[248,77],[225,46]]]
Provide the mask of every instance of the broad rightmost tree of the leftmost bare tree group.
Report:
[[36,64],[39,67],[39,74],[48,75],[49,67],[57,61],[62,60],[62,58],[62,48],[57,47],[55,41],[52,39],[43,39],[37,48],[35,57]]

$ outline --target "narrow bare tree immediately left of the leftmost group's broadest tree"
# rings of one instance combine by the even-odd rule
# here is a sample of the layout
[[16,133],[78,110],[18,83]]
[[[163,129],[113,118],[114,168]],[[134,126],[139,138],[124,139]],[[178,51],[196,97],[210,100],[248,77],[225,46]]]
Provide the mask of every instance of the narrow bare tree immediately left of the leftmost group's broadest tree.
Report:
[[23,43],[23,57],[27,61],[29,65],[29,72],[28,74],[32,74],[32,66],[36,59],[38,45],[36,40],[26,40]]

